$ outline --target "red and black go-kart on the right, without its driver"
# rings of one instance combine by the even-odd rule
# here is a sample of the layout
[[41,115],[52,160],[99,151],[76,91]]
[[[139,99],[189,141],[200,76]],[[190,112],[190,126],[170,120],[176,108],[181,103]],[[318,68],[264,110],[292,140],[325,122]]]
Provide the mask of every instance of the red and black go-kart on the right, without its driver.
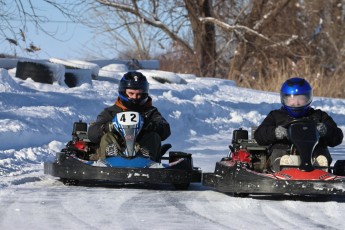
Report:
[[314,163],[313,150],[320,138],[316,124],[300,119],[286,127],[292,143],[286,154],[297,158],[295,164],[272,171],[270,146],[260,146],[248,138],[247,130],[238,129],[229,155],[216,163],[214,173],[203,173],[202,184],[234,196],[345,195],[345,161],[338,160],[332,167]]

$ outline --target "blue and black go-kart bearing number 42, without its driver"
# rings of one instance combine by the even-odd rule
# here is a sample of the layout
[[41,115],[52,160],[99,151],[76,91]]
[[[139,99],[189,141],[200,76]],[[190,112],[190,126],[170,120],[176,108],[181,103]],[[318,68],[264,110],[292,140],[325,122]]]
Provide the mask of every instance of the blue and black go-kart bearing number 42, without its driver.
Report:
[[107,181],[114,183],[173,184],[176,189],[187,189],[190,183],[201,182],[201,170],[193,166],[192,154],[170,151],[162,146],[161,162],[155,162],[139,153],[136,137],[143,127],[144,119],[137,112],[123,112],[113,119],[118,135],[125,142],[125,149],[117,155],[108,155],[104,160],[90,160],[97,144],[87,136],[87,123],[75,122],[72,140],[53,162],[44,163],[44,173],[59,177],[66,185],[77,185],[80,181]]

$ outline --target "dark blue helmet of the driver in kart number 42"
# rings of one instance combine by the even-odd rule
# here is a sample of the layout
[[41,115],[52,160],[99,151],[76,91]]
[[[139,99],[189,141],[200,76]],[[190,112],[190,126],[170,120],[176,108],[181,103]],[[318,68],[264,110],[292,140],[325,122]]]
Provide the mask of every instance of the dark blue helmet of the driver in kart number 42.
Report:
[[[140,89],[142,90],[141,97],[139,99],[128,98],[126,89]],[[145,104],[149,96],[149,83],[146,77],[140,72],[128,72],[123,75],[119,83],[119,97],[121,102],[127,108],[135,108],[137,106]]]

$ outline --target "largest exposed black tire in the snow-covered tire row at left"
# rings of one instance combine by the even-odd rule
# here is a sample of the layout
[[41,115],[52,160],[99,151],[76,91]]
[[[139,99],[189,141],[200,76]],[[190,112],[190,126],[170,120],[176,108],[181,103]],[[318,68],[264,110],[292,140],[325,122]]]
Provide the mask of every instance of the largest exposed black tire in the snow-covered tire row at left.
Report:
[[31,78],[35,82],[53,84],[54,73],[44,63],[18,61],[16,77],[26,80]]

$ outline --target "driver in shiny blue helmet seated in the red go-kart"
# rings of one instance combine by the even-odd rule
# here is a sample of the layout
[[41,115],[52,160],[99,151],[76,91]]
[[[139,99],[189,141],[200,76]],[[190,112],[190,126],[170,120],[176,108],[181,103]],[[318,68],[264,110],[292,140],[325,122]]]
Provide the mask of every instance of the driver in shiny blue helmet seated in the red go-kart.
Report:
[[269,160],[272,171],[279,171],[281,164],[289,164],[286,154],[291,143],[287,139],[285,125],[293,120],[303,118],[317,124],[320,139],[313,152],[315,165],[329,166],[332,157],[328,147],[342,143],[343,132],[334,120],[326,112],[310,106],[312,91],[310,84],[303,78],[294,77],[285,81],[280,89],[282,107],[271,111],[255,130],[254,138],[258,144],[271,145]]

